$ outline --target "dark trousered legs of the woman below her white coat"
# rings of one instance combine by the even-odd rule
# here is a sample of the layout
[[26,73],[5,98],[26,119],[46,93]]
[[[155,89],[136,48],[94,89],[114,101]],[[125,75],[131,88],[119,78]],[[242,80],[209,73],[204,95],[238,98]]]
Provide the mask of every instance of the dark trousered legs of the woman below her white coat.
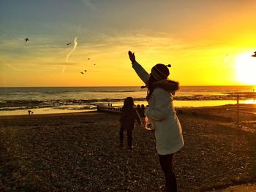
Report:
[[159,155],[159,161],[163,172],[165,173],[165,191],[176,192],[177,182],[173,167],[173,154]]

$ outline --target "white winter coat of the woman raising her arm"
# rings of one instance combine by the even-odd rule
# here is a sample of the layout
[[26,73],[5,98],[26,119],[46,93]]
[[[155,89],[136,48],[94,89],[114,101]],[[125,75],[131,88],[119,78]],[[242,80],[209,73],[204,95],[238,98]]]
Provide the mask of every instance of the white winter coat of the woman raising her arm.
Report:
[[[148,82],[149,74],[138,62],[132,63],[133,69],[143,82]],[[155,88],[148,100],[145,115],[155,127],[156,147],[159,155],[176,153],[184,146],[181,124],[173,107],[173,95],[163,88]]]

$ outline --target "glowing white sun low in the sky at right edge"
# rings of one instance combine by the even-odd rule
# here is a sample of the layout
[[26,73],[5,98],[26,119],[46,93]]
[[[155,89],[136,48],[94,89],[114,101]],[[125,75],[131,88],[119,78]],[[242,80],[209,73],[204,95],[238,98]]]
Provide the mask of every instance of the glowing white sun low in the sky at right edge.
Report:
[[256,85],[256,58],[252,57],[252,53],[238,55],[235,62],[238,81]]

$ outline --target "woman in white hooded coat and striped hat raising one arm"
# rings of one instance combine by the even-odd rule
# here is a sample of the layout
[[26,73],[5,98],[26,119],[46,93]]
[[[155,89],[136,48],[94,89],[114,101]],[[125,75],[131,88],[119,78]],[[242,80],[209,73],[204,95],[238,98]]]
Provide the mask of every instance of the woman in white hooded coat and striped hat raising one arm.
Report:
[[165,191],[177,191],[173,155],[184,146],[181,124],[173,107],[173,95],[178,90],[178,82],[168,80],[170,72],[164,64],[157,64],[148,74],[135,61],[135,54],[129,51],[132,68],[148,88],[145,115],[155,128],[156,147],[162,171],[165,173]]

